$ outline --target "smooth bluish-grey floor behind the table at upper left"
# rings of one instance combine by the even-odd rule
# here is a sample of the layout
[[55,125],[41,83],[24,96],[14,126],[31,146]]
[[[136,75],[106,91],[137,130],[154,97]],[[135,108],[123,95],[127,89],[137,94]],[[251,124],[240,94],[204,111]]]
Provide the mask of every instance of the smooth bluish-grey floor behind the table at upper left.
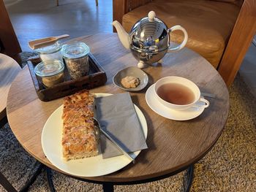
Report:
[[23,51],[32,39],[112,32],[112,0],[4,0]]

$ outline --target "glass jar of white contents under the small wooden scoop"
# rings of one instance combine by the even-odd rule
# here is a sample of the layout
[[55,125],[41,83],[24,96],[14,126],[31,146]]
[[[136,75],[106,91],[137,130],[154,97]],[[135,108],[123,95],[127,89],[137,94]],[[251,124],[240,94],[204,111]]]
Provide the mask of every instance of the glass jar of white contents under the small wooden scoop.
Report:
[[37,53],[39,53],[39,56],[42,61],[57,59],[62,61],[62,55],[61,55],[61,42],[55,42],[53,45],[49,45],[46,47],[42,47],[37,49]]

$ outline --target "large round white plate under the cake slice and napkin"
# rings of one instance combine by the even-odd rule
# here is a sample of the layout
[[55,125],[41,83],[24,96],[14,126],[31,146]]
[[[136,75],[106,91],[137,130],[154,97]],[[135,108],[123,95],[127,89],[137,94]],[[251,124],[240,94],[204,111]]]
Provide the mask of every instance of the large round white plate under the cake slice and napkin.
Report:
[[[97,97],[108,96],[108,93],[96,93]],[[61,133],[62,133],[62,109],[63,105],[55,110],[45,123],[42,129],[42,150],[46,157],[57,168],[63,172],[78,177],[96,177],[100,175],[110,174],[127,166],[131,161],[125,155],[119,155],[113,158],[102,158],[102,154],[91,158],[83,158],[65,161],[62,158]],[[140,109],[135,105],[135,111],[138,115],[140,125],[143,128],[145,138],[148,134],[148,126],[146,119]],[[100,148],[100,147],[99,147]],[[137,156],[140,153],[134,153]]]

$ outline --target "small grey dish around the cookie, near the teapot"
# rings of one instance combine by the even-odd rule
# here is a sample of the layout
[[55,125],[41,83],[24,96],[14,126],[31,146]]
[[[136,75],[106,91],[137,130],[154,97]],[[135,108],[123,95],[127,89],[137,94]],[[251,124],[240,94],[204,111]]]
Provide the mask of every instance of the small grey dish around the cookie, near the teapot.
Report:
[[[140,85],[138,85],[137,88],[124,88],[123,85],[121,85],[121,79],[127,76],[138,77],[140,79]],[[113,77],[113,82],[118,88],[124,89],[125,91],[140,91],[148,84],[148,75],[136,66],[129,66],[117,72]]]

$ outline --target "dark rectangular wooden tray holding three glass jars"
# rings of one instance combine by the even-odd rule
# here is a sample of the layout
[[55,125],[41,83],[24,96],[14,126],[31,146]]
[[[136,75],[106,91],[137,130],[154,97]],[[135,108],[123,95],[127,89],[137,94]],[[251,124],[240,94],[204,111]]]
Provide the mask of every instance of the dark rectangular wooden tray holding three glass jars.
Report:
[[34,73],[34,66],[41,62],[39,56],[29,58],[28,66],[31,78],[34,83],[34,88],[36,89],[37,96],[42,101],[50,101],[53,99],[58,99],[63,96],[68,96],[76,93],[82,89],[91,89],[104,85],[107,82],[107,76],[102,66],[99,65],[97,60],[91,53],[89,53],[89,75],[79,78],[78,80],[71,80],[69,73],[67,72],[67,66],[64,69],[65,81],[53,87],[45,88],[44,85],[37,79],[37,75]]

